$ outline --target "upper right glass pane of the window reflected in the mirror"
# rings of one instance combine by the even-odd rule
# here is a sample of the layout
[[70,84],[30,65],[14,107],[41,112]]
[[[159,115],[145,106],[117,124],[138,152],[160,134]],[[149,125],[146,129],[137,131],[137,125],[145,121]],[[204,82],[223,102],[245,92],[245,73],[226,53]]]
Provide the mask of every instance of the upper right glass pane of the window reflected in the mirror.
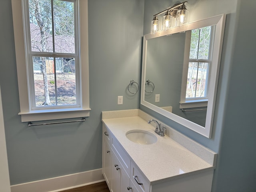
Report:
[[198,59],[208,59],[210,50],[211,26],[200,29]]

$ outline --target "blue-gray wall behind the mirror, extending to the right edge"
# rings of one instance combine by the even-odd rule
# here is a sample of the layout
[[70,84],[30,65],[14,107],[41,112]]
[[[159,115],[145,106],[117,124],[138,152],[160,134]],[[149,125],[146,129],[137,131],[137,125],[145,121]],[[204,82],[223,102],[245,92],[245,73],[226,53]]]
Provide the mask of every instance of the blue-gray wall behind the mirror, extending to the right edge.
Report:
[[[175,3],[145,0],[144,34],[150,32],[153,14]],[[227,14],[212,138],[204,138],[144,106],[140,108],[218,153],[213,192],[254,192],[256,1],[190,0],[187,8],[190,21]]]

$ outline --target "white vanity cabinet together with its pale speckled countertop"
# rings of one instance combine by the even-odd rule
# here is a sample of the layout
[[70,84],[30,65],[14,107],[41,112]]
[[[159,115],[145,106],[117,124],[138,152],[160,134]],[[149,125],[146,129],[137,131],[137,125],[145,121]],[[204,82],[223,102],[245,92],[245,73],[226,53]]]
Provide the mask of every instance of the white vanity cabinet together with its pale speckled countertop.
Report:
[[142,128],[146,123],[136,117],[122,120],[123,127],[120,119],[103,121],[102,174],[111,192],[211,191],[214,166],[168,137],[158,138],[158,142],[168,145],[167,154],[159,150],[163,146],[156,148],[157,144],[146,148],[131,143],[124,138],[125,133],[130,127]]

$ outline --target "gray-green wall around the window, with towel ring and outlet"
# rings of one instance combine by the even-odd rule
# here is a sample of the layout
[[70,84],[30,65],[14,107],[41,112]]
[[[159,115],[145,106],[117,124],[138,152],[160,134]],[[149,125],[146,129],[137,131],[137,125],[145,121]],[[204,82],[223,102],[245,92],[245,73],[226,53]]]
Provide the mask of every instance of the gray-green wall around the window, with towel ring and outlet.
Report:
[[[102,167],[101,112],[139,107],[144,0],[88,0],[90,117],[29,128],[21,123],[10,0],[0,2],[0,85],[11,184]],[[117,96],[124,96],[117,105]]]

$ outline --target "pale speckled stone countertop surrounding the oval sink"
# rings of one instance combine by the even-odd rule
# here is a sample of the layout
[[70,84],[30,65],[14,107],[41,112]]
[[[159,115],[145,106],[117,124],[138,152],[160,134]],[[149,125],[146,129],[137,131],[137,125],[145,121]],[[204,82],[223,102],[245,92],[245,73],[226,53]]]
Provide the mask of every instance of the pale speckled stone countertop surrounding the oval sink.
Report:
[[[146,120],[139,116],[139,113],[129,114],[128,117],[123,117],[119,111],[114,111],[112,114],[114,114],[114,118],[102,112],[102,122],[126,150],[131,160],[148,178],[150,184],[214,170],[215,162],[214,164],[209,164],[167,135],[164,137],[158,136],[154,133],[155,123],[148,124]],[[118,115],[116,116],[115,114]],[[158,138],[157,142],[143,145],[128,140],[126,132],[136,129],[152,132]],[[211,153],[210,150],[209,152]],[[214,154],[213,158],[216,159],[216,154],[212,153]]]

